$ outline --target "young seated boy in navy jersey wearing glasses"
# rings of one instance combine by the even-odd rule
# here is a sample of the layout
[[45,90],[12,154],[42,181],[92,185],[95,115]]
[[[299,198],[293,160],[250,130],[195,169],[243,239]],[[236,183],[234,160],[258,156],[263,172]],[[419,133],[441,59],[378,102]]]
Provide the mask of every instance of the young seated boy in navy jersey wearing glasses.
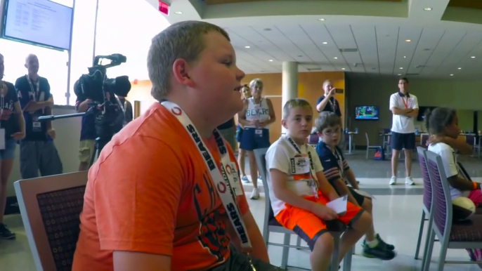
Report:
[[[361,206],[363,210],[372,214],[372,200],[358,194],[358,183],[355,174],[348,166],[348,163],[337,147],[343,131],[341,130],[341,119],[333,112],[321,112],[315,120],[315,126],[321,141],[316,145],[316,154],[320,158],[328,182],[333,186],[339,195],[348,194],[349,202]],[[350,184],[351,187],[347,186]],[[379,234],[374,232],[373,224],[365,235],[363,241],[363,256],[367,258],[379,258],[391,260],[395,258],[395,247],[386,244]]]

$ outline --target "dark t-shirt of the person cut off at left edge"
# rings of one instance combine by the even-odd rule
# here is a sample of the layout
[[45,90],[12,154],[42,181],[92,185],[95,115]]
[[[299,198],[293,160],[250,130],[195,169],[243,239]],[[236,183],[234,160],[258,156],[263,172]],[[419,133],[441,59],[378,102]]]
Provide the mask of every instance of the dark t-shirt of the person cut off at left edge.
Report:
[[18,96],[12,83],[4,83],[7,91],[3,99],[0,96],[0,128],[5,129],[5,140],[9,140],[13,133],[20,131],[14,106],[18,102]]

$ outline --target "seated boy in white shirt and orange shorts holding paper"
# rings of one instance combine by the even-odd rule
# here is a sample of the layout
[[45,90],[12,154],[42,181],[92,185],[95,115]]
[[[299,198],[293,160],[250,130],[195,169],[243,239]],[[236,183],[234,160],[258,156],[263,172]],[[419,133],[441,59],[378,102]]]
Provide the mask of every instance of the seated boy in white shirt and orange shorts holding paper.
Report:
[[325,271],[330,265],[333,238],[325,220],[349,225],[341,237],[339,260],[372,225],[372,217],[351,204],[337,214],[325,206],[339,196],[323,175],[323,166],[306,138],[313,127],[313,109],[304,99],[287,101],[282,112],[286,135],[266,152],[266,170],[271,207],[278,223],[296,232],[311,249],[312,270]]

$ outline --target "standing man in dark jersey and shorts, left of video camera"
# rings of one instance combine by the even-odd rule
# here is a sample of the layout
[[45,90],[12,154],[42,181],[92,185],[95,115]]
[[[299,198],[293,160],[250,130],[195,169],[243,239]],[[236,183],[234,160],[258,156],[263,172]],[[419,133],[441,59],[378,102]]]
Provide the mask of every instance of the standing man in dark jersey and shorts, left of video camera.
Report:
[[56,132],[51,121],[39,117],[52,114],[53,97],[50,85],[39,77],[39,59],[30,54],[25,59],[28,74],[15,81],[18,100],[25,117],[25,138],[20,141],[20,173],[23,179],[61,174],[62,161],[53,139]]

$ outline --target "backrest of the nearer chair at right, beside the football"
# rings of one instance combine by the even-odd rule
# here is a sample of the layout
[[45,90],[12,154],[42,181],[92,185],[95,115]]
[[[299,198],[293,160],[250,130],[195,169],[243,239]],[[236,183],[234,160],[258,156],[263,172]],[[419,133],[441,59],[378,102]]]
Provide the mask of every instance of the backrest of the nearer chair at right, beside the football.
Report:
[[438,231],[442,237],[446,233],[450,234],[452,227],[452,199],[450,197],[450,189],[448,187],[447,176],[443,168],[442,158],[434,152],[426,151],[428,160],[430,180],[432,184],[432,195],[434,201],[432,204],[432,216],[434,217],[434,229]]

